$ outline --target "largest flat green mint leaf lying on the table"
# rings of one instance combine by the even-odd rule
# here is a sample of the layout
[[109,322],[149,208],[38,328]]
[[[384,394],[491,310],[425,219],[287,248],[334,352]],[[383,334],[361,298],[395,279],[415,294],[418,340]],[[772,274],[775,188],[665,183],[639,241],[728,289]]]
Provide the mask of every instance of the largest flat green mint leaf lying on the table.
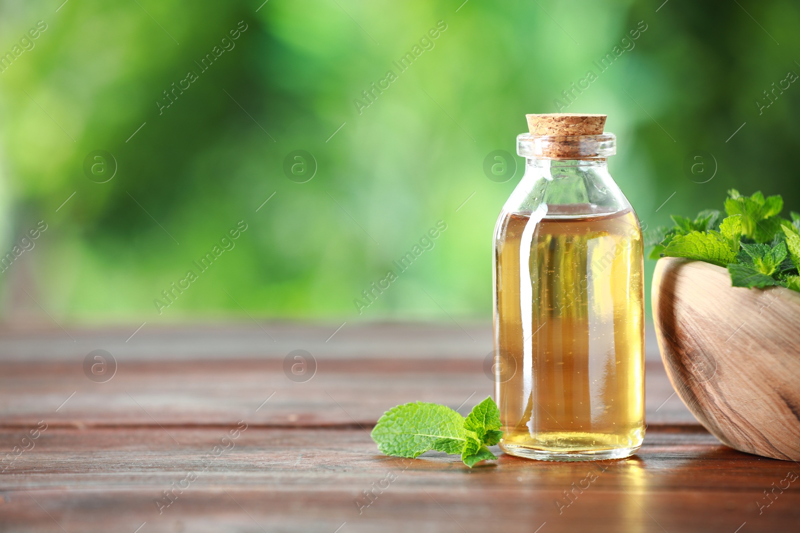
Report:
[[464,417],[453,409],[414,402],[384,413],[372,430],[372,440],[386,455],[417,457],[433,449],[461,453],[467,437]]

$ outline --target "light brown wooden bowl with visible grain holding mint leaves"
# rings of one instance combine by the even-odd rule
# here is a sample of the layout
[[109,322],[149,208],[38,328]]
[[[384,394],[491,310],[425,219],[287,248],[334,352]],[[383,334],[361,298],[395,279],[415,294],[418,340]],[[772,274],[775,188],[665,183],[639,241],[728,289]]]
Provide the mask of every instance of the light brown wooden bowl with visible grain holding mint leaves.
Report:
[[800,293],[731,287],[726,268],[663,257],[653,317],[666,373],[709,432],[800,460]]

